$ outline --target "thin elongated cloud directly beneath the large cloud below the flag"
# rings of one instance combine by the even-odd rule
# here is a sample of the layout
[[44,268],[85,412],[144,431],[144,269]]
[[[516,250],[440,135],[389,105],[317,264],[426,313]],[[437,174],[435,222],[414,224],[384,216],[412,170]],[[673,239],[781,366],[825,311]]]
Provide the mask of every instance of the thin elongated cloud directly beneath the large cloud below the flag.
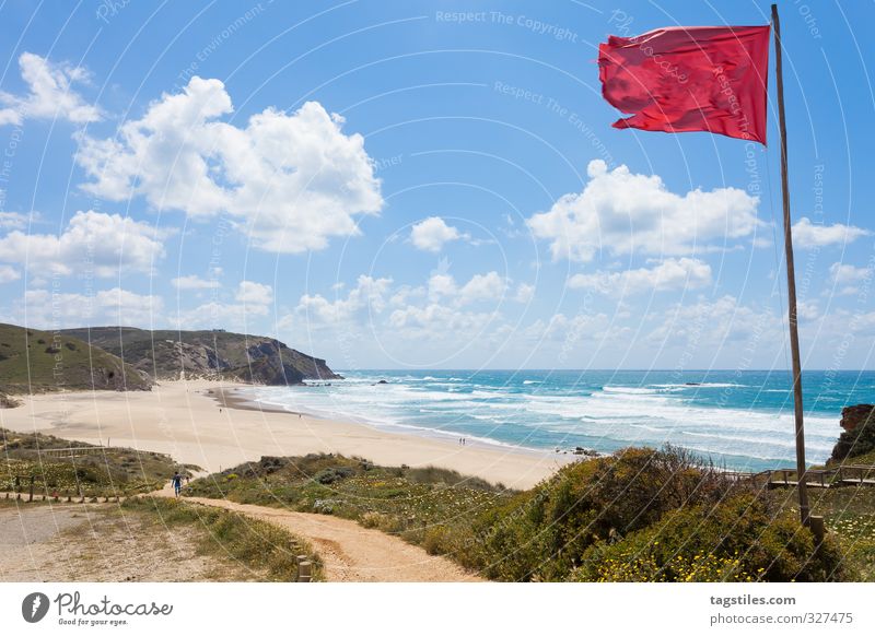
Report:
[[698,259],[669,258],[651,269],[575,274],[569,279],[568,284],[572,288],[588,288],[600,294],[695,290],[711,284],[711,266]]

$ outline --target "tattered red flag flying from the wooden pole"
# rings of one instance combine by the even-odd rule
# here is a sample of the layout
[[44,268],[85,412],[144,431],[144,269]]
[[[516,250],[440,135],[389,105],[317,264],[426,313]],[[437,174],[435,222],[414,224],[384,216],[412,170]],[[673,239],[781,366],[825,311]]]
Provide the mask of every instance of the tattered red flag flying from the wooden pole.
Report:
[[692,26],[611,35],[598,46],[614,128],[707,131],[766,144],[769,26]]

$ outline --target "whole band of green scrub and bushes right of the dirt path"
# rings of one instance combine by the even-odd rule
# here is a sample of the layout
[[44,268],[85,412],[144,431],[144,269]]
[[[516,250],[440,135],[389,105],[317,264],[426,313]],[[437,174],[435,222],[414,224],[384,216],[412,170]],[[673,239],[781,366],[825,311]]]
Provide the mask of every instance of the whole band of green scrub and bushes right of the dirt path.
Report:
[[841,517],[828,517],[827,540],[815,546],[786,493],[734,483],[670,447],[580,461],[526,492],[441,469],[311,455],[262,458],[196,480],[186,493],[355,519],[493,580],[873,576],[854,561],[870,553],[849,551]]

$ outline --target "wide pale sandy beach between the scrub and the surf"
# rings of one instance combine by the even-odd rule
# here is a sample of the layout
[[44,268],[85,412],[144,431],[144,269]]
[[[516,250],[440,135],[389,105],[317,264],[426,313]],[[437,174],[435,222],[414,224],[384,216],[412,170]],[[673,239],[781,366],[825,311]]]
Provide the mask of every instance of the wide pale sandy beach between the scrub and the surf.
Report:
[[527,488],[573,459],[549,452],[458,446],[372,426],[258,408],[245,385],[163,381],[152,391],[84,391],[23,398],[0,410],[0,426],[91,444],[172,455],[209,472],[261,456],[339,452],[387,466],[436,466],[509,487]]

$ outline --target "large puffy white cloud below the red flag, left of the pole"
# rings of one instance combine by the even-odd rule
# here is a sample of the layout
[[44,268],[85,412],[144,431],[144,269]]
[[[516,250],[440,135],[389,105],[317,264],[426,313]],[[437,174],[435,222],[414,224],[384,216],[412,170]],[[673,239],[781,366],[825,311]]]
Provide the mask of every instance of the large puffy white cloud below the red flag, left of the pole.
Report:
[[581,193],[565,195],[527,221],[535,236],[551,242],[556,259],[587,262],[599,250],[682,255],[749,236],[760,225],[759,199],[737,188],[680,196],[656,175],[635,175],[626,166],[608,170],[600,160],[590,162],[587,174]]

